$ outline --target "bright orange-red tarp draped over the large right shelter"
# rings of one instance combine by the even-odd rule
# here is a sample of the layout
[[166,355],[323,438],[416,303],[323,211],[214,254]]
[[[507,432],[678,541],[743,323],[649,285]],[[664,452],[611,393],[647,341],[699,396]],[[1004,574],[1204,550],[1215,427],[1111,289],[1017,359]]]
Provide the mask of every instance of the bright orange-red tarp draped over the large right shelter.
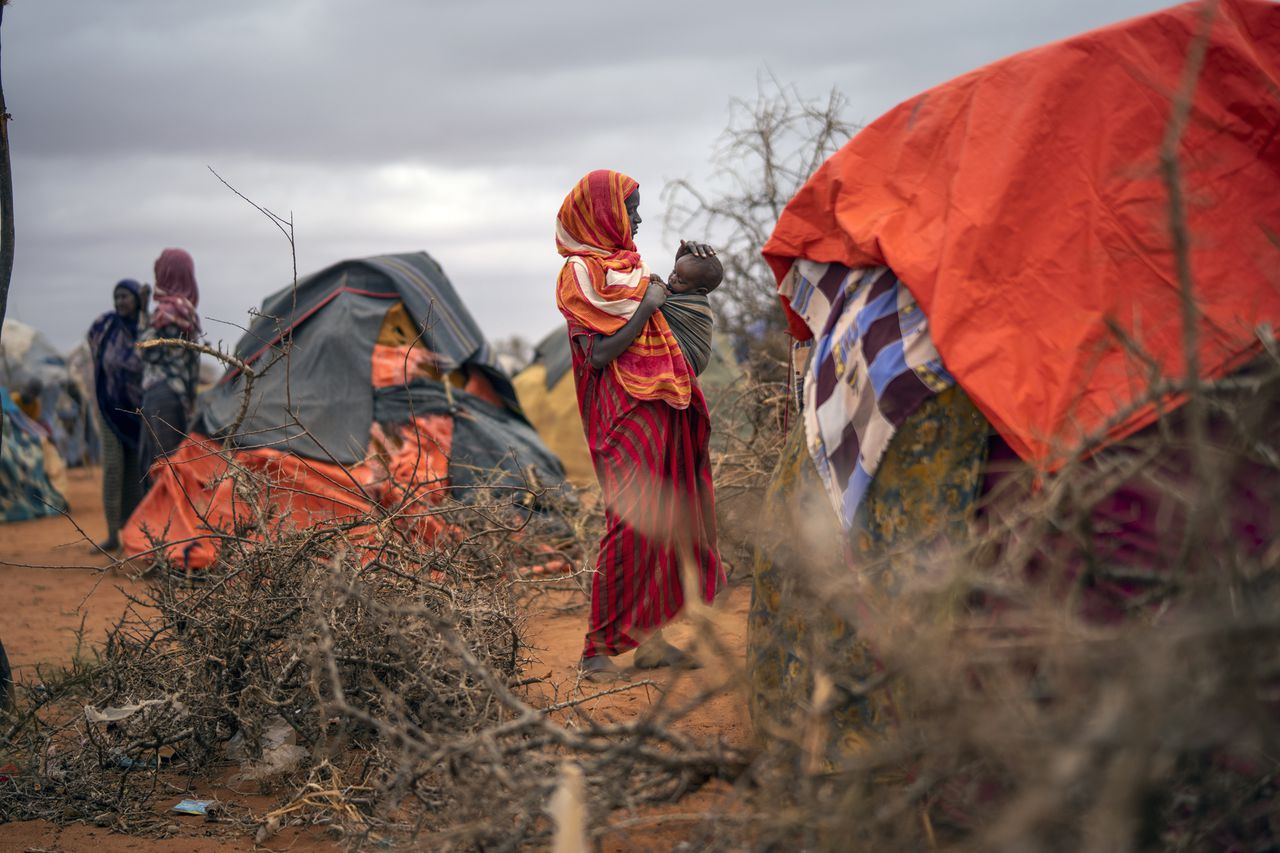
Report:
[[[799,257],[888,265],[1028,461],[1147,425],[1152,368],[1187,373],[1160,150],[1203,9],[1019,54],[899,105],[787,205],[764,247],[774,274]],[[1216,9],[1178,147],[1206,378],[1256,353],[1260,325],[1280,328],[1280,6]]]

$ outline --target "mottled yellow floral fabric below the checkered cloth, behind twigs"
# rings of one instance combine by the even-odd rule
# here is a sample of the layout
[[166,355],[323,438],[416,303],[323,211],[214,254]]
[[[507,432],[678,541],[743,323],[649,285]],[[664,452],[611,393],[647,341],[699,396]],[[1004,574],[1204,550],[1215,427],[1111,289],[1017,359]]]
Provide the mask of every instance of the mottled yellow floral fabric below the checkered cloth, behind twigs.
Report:
[[[824,579],[854,571],[870,581],[869,594],[893,596],[933,549],[963,538],[989,429],[960,388],[925,401],[893,437],[847,534],[826,503],[803,434],[792,432],[764,514],[785,529],[765,532],[768,543],[756,548],[748,617],[759,736],[818,738],[809,751],[831,768],[901,712],[890,690],[876,686],[874,652],[847,619],[861,602],[832,601]],[[829,525],[814,530],[823,511]]]

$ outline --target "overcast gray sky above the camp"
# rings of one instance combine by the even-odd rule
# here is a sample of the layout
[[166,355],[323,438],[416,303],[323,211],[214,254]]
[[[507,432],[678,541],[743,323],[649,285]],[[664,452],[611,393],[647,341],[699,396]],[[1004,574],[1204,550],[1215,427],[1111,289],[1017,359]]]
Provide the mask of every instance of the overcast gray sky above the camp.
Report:
[[[643,187],[666,270],[663,184],[708,179],[762,73],[869,122],[1001,56],[1151,12],[1151,0],[13,0],[3,83],[17,268],[9,316],[61,348],[196,259],[212,339],[288,284],[288,243],[237,199],[292,213],[300,274],[430,252],[490,338],[557,321],[561,200],[590,169]],[[690,234],[690,237],[696,237]]]

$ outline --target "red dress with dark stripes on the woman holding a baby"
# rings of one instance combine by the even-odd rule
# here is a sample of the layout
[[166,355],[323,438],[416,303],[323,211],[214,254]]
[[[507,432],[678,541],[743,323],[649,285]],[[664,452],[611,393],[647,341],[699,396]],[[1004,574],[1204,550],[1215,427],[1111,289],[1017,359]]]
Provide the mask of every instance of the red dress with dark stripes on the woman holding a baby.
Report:
[[[570,334],[584,334],[570,325]],[[604,498],[605,533],[591,579],[582,657],[621,654],[671,621],[690,592],[710,602],[724,584],[716,546],[710,420],[698,386],[676,409],[637,400],[613,371],[572,346],[577,402]]]

